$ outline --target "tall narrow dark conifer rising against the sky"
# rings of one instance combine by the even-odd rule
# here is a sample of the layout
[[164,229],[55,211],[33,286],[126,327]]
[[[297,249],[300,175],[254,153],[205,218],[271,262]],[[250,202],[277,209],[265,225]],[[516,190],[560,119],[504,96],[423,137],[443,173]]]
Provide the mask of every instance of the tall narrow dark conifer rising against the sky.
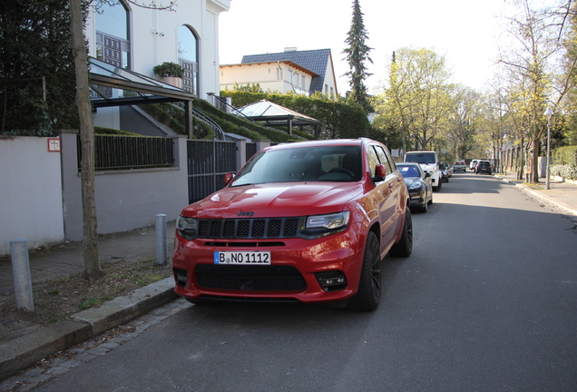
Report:
[[367,39],[368,35],[363,23],[363,13],[360,10],[358,0],[354,0],[353,20],[345,40],[345,44],[348,46],[343,51],[344,54],[347,54],[345,60],[347,60],[350,68],[350,71],[345,73],[350,77],[351,92],[348,95],[348,99],[358,103],[368,113],[372,108],[368,102],[367,86],[365,86],[364,81],[371,73],[367,73],[365,63],[369,61],[372,64],[373,61],[368,57],[368,52],[371,48],[365,44]]

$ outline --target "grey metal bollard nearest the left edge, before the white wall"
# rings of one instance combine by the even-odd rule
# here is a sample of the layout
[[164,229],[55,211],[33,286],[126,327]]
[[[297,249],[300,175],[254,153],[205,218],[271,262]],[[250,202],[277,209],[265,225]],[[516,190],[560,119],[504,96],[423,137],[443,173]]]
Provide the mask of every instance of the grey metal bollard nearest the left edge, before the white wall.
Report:
[[10,255],[12,257],[16,308],[33,312],[34,298],[32,297],[28,241],[23,239],[11,240]]

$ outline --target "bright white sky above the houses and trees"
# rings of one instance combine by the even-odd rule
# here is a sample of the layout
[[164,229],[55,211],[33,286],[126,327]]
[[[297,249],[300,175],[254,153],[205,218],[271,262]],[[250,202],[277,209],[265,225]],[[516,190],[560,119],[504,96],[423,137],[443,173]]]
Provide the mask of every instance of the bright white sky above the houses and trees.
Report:
[[[504,0],[360,0],[372,48],[369,93],[387,79],[393,51],[427,48],[445,56],[453,82],[481,90],[494,73]],[[352,21],[352,0],[231,0],[220,14],[220,64],[239,64],[245,54],[330,49],[338,93],[349,89],[342,54]]]

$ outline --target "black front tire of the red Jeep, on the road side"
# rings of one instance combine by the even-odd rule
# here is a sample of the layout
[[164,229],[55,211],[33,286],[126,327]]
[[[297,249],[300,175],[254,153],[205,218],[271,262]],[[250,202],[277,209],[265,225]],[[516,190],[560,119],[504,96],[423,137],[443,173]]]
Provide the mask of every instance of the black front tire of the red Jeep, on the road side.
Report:
[[377,309],[381,300],[381,252],[377,236],[368,232],[367,245],[358,291],[355,297],[348,300],[347,308],[351,310],[372,311]]

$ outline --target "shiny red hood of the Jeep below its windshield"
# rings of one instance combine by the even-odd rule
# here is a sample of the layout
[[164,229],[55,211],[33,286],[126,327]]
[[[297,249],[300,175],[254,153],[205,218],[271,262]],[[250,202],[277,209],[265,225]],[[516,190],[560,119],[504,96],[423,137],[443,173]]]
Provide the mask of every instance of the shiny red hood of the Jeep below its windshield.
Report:
[[272,183],[224,188],[182,211],[205,219],[270,218],[337,212],[362,191],[358,183]]

